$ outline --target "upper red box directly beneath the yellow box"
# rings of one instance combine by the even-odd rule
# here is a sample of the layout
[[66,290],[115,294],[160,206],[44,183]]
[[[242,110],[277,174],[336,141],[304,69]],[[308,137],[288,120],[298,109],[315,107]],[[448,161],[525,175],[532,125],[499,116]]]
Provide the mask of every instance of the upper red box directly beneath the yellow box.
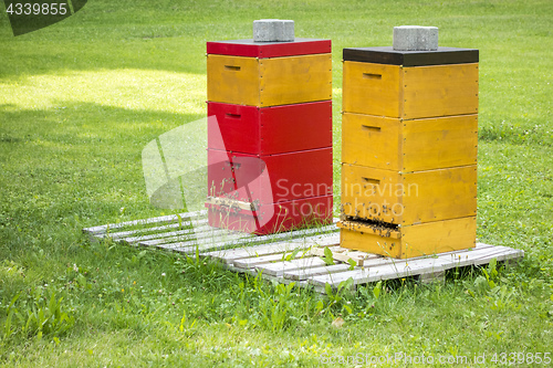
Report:
[[208,103],[208,148],[275,155],[332,146],[332,102],[272,107]]

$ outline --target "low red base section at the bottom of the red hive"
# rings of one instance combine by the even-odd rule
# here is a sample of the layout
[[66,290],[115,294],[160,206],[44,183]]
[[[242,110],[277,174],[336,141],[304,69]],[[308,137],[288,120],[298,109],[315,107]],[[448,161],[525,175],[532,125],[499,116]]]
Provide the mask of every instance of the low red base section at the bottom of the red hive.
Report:
[[302,225],[332,223],[332,196],[304,198],[279,204],[261,204],[255,212],[208,207],[209,224],[258,235],[288,231]]

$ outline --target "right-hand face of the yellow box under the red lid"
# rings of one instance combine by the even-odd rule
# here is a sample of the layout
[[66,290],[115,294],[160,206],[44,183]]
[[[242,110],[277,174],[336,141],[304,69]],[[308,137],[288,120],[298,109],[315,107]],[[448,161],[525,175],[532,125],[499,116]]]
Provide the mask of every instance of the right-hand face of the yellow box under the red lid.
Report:
[[332,98],[332,55],[261,59],[260,106]]

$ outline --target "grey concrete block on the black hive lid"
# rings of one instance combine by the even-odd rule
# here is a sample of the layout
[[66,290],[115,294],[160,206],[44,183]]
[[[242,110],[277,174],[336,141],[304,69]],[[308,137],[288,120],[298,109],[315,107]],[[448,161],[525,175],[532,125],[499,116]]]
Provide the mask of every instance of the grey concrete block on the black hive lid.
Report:
[[438,50],[438,28],[420,25],[394,27],[393,49],[397,51]]

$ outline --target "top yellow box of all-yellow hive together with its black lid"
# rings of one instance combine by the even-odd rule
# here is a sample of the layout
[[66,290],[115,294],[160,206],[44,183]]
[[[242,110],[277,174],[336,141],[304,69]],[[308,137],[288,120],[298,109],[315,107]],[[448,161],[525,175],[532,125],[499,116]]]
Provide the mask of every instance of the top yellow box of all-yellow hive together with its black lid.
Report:
[[478,50],[344,49],[343,109],[416,119],[478,113]]

